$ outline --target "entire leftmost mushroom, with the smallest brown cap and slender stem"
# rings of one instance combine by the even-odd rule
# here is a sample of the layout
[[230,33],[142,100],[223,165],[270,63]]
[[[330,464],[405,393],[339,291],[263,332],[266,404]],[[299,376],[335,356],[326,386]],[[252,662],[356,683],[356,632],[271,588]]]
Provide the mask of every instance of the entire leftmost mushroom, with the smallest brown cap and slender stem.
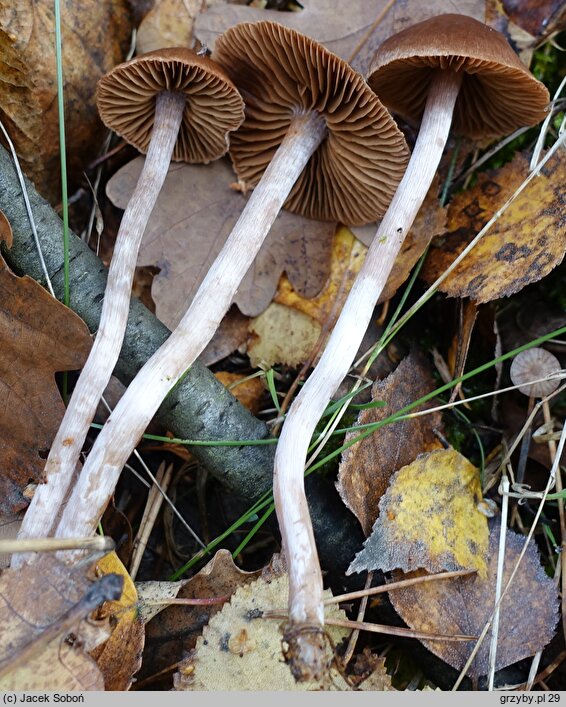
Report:
[[[20,537],[54,530],[96,406],[110,379],[126,329],[136,259],[145,227],[173,160],[211,162],[228,150],[244,118],[243,101],[225,72],[190,49],[149,52],[116,66],[98,84],[104,123],[147,153],[124,211],[108,272],[96,338],[57,432]],[[15,557],[13,566],[21,563]]]

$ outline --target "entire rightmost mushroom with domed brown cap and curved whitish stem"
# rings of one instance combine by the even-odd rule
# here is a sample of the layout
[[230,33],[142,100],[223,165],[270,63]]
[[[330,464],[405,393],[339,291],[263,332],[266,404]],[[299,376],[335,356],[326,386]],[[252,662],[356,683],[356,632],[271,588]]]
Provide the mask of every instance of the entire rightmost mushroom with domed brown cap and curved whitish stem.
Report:
[[495,136],[545,115],[549,96],[505,38],[470,17],[442,15],[387,39],[369,85],[419,135],[387,213],[343,306],[325,351],[287,413],[275,454],[277,517],[295,581],[289,616],[296,630],[321,614],[320,568],[304,496],[303,474],[315,426],[346,376],[405,235],[431,185],[450,126],[471,137]]

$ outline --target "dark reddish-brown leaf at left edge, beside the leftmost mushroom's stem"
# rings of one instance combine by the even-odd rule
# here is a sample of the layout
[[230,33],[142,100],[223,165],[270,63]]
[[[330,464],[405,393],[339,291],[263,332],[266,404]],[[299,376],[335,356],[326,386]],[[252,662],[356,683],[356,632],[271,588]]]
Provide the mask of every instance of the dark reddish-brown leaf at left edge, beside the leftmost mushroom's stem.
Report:
[[56,371],[79,369],[91,339],[82,319],[0,258],[0,515],[27,506],[64,406]]

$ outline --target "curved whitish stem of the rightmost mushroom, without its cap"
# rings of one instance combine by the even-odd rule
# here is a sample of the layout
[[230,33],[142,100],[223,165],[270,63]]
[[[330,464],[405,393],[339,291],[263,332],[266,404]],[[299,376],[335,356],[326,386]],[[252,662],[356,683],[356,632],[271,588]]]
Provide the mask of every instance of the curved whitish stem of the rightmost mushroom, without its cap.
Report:
[[324,353],[287,413],[277,445],[274,497],[289,568],[287,633],[295,639],[292,669],[296,675],[311,677],[319,670],[316,646],[324,623],[322,576],[304,489],[308,447],[326,405],[354,361],[403,239],[432,183],[448,139],[460,83],[461,75],[452,71],[439,73],[432,82],[407,171]]

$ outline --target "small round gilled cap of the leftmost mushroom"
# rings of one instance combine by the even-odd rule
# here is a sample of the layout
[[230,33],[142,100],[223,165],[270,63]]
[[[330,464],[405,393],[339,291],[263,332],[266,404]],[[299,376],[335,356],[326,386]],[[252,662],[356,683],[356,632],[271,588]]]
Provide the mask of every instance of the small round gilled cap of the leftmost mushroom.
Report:
[[244,119],[244,103],[221,67],[191,49],[159,49],[114,67],[96,89],[100,117],[145,154],[155,100],[163,91],[186,96],[173,160],[207,163],[226,154],[228,133]]

